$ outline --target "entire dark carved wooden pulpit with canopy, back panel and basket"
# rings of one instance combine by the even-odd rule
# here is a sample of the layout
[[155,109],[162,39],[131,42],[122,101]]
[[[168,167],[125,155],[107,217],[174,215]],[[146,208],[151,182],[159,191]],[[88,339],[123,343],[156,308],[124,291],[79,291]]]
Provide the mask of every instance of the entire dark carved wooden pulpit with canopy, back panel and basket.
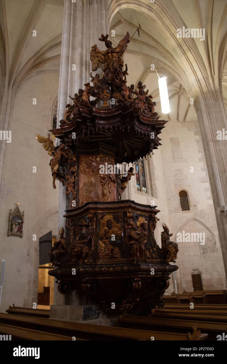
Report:
[[[38,140],[53,155],[55,177],[61,166],[65,168],[66,193],[77,201],[77,207],[64,215],[69,241],[65,246],[60,236],[51,255],[56,267],[49,274],[59,281],[60,293],[80,290],[110,314],[148,315],[163,305],[160,298],[168,288],[169,274],[178,268],[169,264],[174,254],[167,258],[174,244],[163,235],[164,249],[157,245],[157,206],[119,201],[133,169],[122,177],[100,173],[100,166],[134,162],[152,153],[161,145],[158,135],[166,121],[158,120],[155,102],[141,81],[136,90],[133,84],[127,86],[128,67],[123,69],[122,55],[129,33],[115,48],[108,35],[99,40],[107,49],[99,51],[95,44],[90,59],[93,71],[103,65],[103,74],[90,74],[84,90],[70,96],[73,105],[66,106],[60,128],[52,130],[63,146],[56,149],[47,138]],[[101,100],[103,105],[96,107]]]

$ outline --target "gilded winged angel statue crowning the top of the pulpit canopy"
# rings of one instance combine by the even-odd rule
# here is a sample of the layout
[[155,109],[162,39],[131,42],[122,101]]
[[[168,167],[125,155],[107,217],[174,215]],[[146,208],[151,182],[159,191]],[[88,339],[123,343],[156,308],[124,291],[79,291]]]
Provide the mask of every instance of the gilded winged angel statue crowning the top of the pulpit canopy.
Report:
[[127,48],[127,44],[129,43],[129,32],[127,32],[126,36],[120,40],[117,47],[115,48],[113,48],[112,42],[107,39],[108,37],[108,34],[101,34],[101,38],[99,38],[100,41],[105,42],[105,46],[107,48],[106,51],[100,51],[97,48],[97,44],[91,47],[90,60],[92,63],[92,71],[97,70],[99,63],[105,65],[102,69],[104,73],[108,68],[110,71],[113,71],[113,69],[116,67],[124,66],[124,62],[121,57]]

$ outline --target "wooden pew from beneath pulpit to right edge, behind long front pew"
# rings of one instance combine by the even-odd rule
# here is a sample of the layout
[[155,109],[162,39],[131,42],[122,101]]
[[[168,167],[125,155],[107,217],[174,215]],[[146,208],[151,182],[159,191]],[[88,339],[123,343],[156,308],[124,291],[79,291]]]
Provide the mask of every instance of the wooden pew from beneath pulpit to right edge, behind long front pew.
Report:
[[118,319],[121,327],[140,330],[164,330],[165,332],[187,333],[192,326],[197,326],[198,330],[208,333],[208,340],[217,340],[217,335],[227,334],[227,323],[194,321],[194,320],[176,320],[175,318],[164,318],[143,316],[122,315]]

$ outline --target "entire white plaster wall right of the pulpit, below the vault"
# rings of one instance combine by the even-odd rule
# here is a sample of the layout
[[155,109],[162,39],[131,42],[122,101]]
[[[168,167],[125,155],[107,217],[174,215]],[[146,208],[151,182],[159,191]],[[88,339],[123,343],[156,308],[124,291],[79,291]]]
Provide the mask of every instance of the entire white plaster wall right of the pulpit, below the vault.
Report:
[[[162,117],[163,118],[163,117]],[[179,242],[177,254],[177,289],[193,291],[191,273],[199,269],[202,273],[203,288],[224,289],[226,280],[218,228],[211,197],[210,183],[207,176],[206,162],[201,144],[197,120],[190,122],[171,122],[166,124],[161,134],[162,146],[154,150],[152,158],[146,161],[146,177],[149,178],[149,165],[154,196],[136,189],[136,176],[128,183],[128,191],[122,198],[130,198],[136,202],[150,204],[154,200],[160,221],[156,226],[156,241],[161,246],[162,222],[173,233],[176,241],[177,232],[205,233],[205,244],[197,242]],[[149,164],[149,165],[148,165]],[[194,172],[190,173],[193,166]],[[179,191],[188,191],[190,210],[181,211]],[[148,187],[148,192],[150,191]],[[188,223],[191,219],[192,223]],[[212,232],[212,234],[211,234]],[[174,290],[173,280],[167,294]]]

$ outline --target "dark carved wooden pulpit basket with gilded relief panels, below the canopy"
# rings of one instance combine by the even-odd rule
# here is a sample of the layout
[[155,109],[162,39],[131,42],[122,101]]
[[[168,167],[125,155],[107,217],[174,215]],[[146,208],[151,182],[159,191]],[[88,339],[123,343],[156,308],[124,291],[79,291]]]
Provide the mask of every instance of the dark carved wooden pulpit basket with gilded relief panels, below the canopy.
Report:
[[155,240],[155,248],[150,243],[158,211],[130,200],[90,202],[68,210],[70,242],[58,268],[50,271],[60,281],[60,292],[83,290],[110,313],[115,302],[116,313],[149,314],[177,269]]

